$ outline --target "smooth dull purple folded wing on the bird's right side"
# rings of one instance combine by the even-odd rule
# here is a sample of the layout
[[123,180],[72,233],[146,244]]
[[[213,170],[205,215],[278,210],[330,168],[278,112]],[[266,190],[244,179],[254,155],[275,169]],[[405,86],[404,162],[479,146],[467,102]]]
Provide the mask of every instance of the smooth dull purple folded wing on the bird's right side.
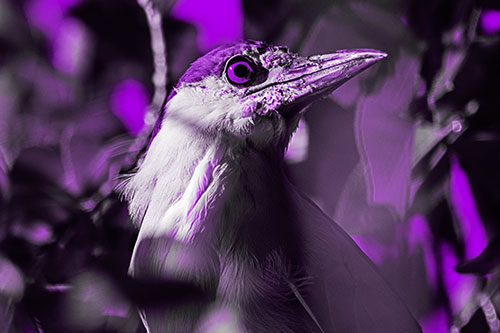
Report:
[[325,332],[421,332],[415,318],[351,237],[297,191],[308,303]]

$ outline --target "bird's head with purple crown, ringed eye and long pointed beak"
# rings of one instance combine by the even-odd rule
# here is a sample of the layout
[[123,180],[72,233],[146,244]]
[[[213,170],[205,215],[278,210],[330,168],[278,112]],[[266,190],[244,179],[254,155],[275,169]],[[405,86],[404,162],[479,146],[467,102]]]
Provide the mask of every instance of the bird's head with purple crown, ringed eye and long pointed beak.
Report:
[[167,117],[205,134],[284,150],[306,106],[384,57],[366,49],[303,57],[263,42],[223,45],[181,77]]

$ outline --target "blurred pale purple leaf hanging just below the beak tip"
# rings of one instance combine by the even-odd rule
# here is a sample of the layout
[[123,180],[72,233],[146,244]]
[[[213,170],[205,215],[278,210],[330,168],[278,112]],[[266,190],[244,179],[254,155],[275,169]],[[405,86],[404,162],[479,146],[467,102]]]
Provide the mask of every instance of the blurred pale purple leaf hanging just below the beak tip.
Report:
[[356,137],[366,168],[368,202],[387,204],[404,216],[409,202],[415,124],[405,119],[418,77],[419,61],[402,53],[373,94],[358,102]]

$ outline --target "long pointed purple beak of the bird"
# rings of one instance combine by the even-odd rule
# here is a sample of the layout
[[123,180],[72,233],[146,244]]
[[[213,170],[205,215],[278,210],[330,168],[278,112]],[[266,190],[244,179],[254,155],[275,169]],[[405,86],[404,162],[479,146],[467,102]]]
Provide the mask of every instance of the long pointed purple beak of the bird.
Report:
[[[377,50],[342,50],[330,54],[300,57],[280,74],[272,85],[286,85],[288,102],[281,114],[297,114],[314,100],[326,96],[364,69],[387,57]],[[262,89],[262,88],[261,88]]]

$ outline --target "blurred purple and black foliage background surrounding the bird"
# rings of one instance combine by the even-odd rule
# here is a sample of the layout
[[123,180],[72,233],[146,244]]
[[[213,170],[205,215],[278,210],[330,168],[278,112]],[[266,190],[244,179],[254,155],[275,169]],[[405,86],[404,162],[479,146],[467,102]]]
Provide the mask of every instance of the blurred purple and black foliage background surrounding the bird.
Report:
[[137,231],[114,189],[189,64],[241,38],[389,54],[313,105],[290,178],[424,332],[500,332],[493,0],[0,1],[0,331],[145,332],[158,288],[127,277]]

